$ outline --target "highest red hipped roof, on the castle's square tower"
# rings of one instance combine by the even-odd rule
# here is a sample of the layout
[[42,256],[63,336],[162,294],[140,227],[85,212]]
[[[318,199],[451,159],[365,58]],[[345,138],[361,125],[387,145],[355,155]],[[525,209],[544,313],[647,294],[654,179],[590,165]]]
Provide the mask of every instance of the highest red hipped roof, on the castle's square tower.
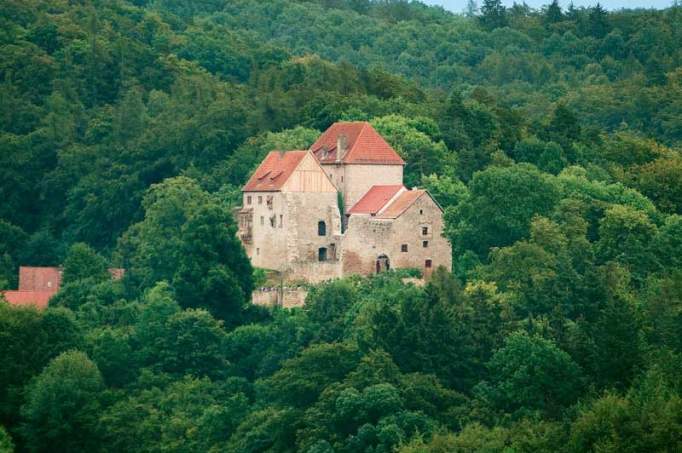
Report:
[[310,147],[322,163],[336,162],[339,136],[346,137],[346,151],[340,161],[345,164],[404,165],[405,161],[366,121],[332,124]]

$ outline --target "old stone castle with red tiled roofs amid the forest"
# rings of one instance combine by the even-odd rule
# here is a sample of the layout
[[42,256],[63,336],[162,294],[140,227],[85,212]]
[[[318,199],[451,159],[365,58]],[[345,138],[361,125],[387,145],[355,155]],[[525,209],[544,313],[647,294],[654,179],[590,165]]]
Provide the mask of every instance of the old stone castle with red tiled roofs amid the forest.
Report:
[[451,268],[443,210],[403,186],[405,162],[366,122],[333,124],[305,151],[272,151],[242,188],[251,263],[318,282],[390,268]]

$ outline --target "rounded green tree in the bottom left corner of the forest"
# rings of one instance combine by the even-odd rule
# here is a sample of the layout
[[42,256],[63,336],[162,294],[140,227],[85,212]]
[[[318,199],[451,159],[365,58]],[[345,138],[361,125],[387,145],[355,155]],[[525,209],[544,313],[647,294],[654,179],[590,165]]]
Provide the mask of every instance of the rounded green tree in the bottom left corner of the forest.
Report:
[[23,436],[33,451],[68,452],[99,445],[102,375],[87,355],[64,352],[31,382],[21,408]]

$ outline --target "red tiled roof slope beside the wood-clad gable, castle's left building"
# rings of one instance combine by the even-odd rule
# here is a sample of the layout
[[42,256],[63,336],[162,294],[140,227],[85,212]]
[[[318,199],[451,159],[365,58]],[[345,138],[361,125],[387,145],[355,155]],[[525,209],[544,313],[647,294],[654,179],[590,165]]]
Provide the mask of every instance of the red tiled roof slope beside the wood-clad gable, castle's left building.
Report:
[[271,151],[251,175],[251,179],[242,190],[244,192],[276,192],[280,190],[306,153],[307,151]]

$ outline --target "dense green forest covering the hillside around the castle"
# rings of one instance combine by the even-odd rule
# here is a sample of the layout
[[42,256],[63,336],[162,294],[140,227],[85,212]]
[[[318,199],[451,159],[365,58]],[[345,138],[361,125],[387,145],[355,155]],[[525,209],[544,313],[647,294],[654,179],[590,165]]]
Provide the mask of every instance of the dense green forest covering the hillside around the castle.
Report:
[[[682,8],[0,2],[0,452],[682,450]],[[453,269],[251,305],[239,188],[368,120]],[[112,281],[108,266],[126,268]]]

